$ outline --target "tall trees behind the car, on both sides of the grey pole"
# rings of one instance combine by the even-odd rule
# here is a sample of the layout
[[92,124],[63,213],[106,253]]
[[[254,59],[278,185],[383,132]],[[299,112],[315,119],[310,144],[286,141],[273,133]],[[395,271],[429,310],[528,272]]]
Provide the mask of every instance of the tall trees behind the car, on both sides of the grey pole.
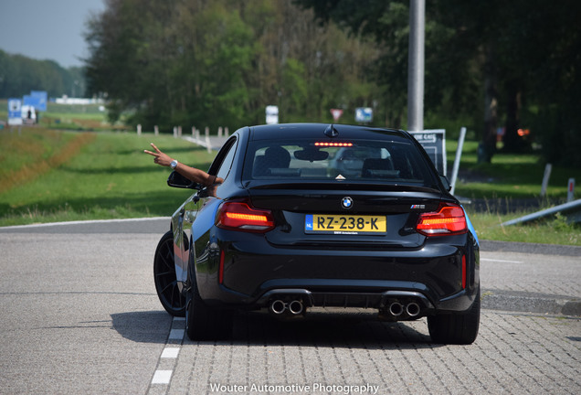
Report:
[[[106,0],[87,25],[90,93],[145,128],[280,122],[406,127],[409,0]],[[534,140],[581,165],[576,0],[428,0],[425,126],[466,125],[490,161]],[[452,128],[453,129],[453,128]],[[460,129],[458,127],[456,130]],[[528,129],[530,135],[519,135]],[[455,130],[450,130],[454,133]]]

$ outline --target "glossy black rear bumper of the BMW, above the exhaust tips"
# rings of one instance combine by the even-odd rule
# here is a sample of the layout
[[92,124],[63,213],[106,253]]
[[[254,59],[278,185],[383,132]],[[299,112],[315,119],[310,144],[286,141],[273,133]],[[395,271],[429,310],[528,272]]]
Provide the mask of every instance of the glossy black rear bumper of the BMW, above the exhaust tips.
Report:
[[275,301],[300,301],[305,308],[364,307],[380,313],[394,304],[417,304],[422,316],[467,311],[480,286],[478,246],[469,234],[427,240],[413,251],[280,248],[257,236],[217,242],[219,252],[206,255],[196,278],[207,304],[260,309]]

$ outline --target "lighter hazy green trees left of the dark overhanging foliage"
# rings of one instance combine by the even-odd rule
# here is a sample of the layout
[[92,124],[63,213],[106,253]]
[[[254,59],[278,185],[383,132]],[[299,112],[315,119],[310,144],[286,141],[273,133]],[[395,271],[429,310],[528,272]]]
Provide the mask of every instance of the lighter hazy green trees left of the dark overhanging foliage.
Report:
[[329,121],[372,101],[377,51],[285,0],[108,0],[87,26],[90,91],[146,128]]

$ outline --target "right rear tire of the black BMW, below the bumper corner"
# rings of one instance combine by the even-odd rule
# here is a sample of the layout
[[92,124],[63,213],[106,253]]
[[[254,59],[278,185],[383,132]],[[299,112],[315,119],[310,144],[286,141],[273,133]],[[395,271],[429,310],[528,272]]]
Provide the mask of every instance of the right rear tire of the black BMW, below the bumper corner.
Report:
[[465,314],[428,316],[428,330],[434,343],[469,345],[476,340],[481,322],[481,290]]

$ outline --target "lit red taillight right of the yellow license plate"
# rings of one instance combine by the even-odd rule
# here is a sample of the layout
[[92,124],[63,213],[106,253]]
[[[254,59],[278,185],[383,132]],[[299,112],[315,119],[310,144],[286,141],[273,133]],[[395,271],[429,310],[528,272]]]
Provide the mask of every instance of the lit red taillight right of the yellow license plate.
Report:
[[420,214],[416,229],[426,236],[447,236],[468,231],[464,210],[449,203],[441,203],[438,212]]

